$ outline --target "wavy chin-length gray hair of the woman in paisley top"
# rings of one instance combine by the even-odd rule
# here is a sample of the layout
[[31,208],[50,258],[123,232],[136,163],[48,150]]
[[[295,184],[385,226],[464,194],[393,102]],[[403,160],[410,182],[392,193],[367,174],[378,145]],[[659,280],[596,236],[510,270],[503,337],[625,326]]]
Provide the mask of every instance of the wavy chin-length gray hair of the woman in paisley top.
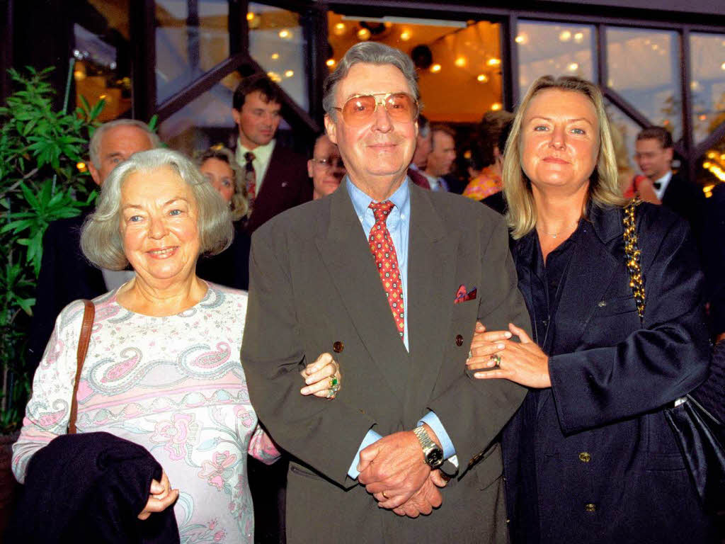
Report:
[[216,255],[231,244],[234,227],[229,207],[219,192],[183,154],[170,149],[151,149],[133,154],[109,174],[101,186],[96,210],[83,224],[80,249],[91,263],[110,270],[123,270],[128,258],[120,235],[121,187],[133,173],[168,168],[191,189],[199,210],[199,252]]

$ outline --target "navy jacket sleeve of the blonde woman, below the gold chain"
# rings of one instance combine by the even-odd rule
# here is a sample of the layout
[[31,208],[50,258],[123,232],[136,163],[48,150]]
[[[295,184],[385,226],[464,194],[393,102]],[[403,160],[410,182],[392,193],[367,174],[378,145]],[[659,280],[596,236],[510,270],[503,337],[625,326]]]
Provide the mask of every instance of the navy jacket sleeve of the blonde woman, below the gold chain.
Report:
[[[647,244],[648,229],[641,227],[637,231],[646,294],[642,329],[616,345],[549,360],[565,433],[660,408],[694,389],[708,371],[703,273],[689,229],[683,221],[659,230],[650,226]],[[648,247],[653,250],[649,257]]]

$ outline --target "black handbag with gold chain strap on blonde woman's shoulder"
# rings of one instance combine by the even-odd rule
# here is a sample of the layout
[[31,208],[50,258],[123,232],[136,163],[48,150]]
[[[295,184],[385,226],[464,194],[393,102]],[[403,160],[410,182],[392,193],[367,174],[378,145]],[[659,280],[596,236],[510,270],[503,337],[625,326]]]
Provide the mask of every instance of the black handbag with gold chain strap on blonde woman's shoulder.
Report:
[[[645,315],[645,284],[634,222],[634,210],[639,203],[637,197],[629,202],[624,208],[622,221],[629,287],[634,295],[634,302],[637,303],[639,320],[642,321]],[[700,387],[708,387],[708,382]],[[725,425],[691,393],[666,406],[663,413],[674,433],[687,471],[705,510],[724,510],[725,493],[722,490],[725,489]]]

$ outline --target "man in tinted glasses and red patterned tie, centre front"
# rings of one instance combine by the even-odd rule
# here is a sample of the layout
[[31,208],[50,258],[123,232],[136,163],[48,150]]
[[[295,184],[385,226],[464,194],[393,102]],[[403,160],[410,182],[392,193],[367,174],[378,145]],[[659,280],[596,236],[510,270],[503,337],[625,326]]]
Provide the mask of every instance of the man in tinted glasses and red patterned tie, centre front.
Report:
[[[293,459],[287,542],[506,542],[497,435],[526,391],[465,372],[477,319],[529,322],[505,223],[410,183],[418,84],[401,51],[353,46],[323,106],[347,176],[254,234],[241,350],[260,421]],[[297,399],[320,351],[342,389]]]

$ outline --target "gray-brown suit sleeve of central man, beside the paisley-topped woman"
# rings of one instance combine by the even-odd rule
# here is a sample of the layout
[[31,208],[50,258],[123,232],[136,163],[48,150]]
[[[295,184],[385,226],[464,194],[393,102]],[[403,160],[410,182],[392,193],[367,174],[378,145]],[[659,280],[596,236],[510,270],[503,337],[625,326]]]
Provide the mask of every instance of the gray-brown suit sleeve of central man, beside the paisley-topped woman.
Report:
[[[275,223],[276,226],[277,223]],[[305,356],[294,308],[286,239],[265,225],[252,236],[249,302],[241,360],[249,397],[271,437],[284,450],[340,485],[375,421],[344,402],[303,397]],[[315,354],[315,358],[319,354]]]

